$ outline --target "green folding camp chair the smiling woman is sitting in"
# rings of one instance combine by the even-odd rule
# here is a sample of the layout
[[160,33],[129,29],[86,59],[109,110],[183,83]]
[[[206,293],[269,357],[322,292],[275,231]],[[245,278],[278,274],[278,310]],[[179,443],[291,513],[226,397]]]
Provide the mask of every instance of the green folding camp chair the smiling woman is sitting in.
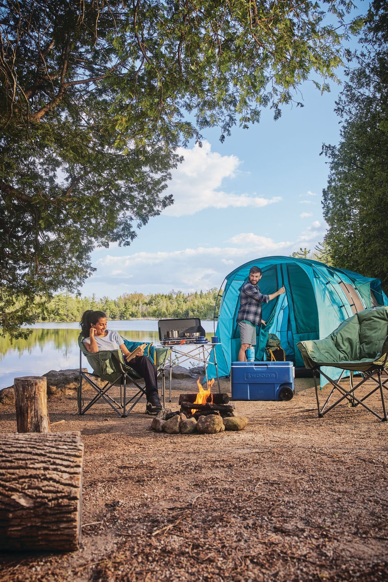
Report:
[[[91,354],[87,351],[82,340],[84,336],[80,333],[78,338],[78,345],[80,347],[80,371],[79,371],[79,386],[77,392],[78,414],[85,414],[98,400],[103,399],[109,406],[119,414],[120,417],[125,418],[130,411],[145,396],[145,386],[143,378],[137,374],[132,368],[126,364],[121,350],[102,351]],[[124,342],[124,338],[123,338]],[[140,345],[142,342],[136,342]],[[86,356],[93,372],[84,372],[82,370],[82,354]],[[162,374],[162,398],[163,408],[165,408],[165,370],[164,366],[168,359],[170,350],[165,347],[155,348],[155,365],[158,368],[158,375]],[[97,384],[96,380],[101,379],[105,381],[104,386]],[[83,398],[83,381],[86,381],[97,394],[84,406]],[[109,391],[113,386],[118,386],[120,382],[120,405],[111,395]],[[142,382],[142,384],[139,384]],[[133,384],[137,388],[137,392],[131,398],[127,398],[127,386]],[[129,408],[128,408],[129,406]]]

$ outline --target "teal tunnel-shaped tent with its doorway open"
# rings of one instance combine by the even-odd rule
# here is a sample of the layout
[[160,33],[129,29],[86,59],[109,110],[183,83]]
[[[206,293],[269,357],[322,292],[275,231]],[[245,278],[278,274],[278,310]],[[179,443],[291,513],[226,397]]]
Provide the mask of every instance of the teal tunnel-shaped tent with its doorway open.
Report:
[[[219,294],[221,300],[215,333],[220,338],[220,345],[216,346],[220,376],[229,375],[231,362],[237,360],[240,335],[236,320],[240,289],[254,265],[262,269],[259,281],[262,293],[273,293],[282,285],[286,289],[285,294],[262,304],[262,318],[266,325],[260,330],[257,328],[257,361],[265,359],[268,334],[275,333],[286,352],[286,360],[293,361],[296,368],[304,369],[298,342],[325,338],[354,313],[366,307],[388,305],[380,279],[302,258],[264,257],[247,262],[226,276]],[[210,365],[208,374],[215,375],[214,365]]]

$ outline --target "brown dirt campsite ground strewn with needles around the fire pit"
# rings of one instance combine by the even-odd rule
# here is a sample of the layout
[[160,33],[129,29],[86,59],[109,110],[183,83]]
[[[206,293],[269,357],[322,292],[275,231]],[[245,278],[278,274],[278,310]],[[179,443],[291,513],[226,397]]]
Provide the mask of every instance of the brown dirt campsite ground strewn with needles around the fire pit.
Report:
[[[173,381],[173,410],[195,386]],[[248,426],[216,435],[151,432],[144,402],[120,418],[50,400],[51,421],[66,420],[53,430],[84,442],[81,546],[3,555],[0,580],[388,580],[388,424],[359,406],[319,419],[312,379],[296,392],[236,402]],[[3,406],[0,432],[15,431]]]

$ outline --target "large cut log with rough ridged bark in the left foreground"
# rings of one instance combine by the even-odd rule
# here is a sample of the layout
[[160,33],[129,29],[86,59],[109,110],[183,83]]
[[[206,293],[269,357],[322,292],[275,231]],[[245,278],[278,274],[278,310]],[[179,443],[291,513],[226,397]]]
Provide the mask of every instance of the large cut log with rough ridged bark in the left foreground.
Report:
[[2,550],[79,547],[83,449],[79,432],[1,435]]

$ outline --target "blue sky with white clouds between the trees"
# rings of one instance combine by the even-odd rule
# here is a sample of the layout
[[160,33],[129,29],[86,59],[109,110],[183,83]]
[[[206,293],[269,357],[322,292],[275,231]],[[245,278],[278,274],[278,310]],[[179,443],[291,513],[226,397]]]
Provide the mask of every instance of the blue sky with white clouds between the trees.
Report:
[[[342,70],[338,73],[343,77]],[[322,241],[322,189],[328,177],[322,143],[339,141],[334,113],[340,86],[321,95],[301,87],[303,108],[284,107],[276,122],[264,110],[248,130],[236,127],[223,144],[216,129],[203,147],[181,150],[169,191],[175,204],[138,230],[130,247],[92,253],[97,268],[81,293],[117,297],[219,288],[244,262],[289,255]]]

